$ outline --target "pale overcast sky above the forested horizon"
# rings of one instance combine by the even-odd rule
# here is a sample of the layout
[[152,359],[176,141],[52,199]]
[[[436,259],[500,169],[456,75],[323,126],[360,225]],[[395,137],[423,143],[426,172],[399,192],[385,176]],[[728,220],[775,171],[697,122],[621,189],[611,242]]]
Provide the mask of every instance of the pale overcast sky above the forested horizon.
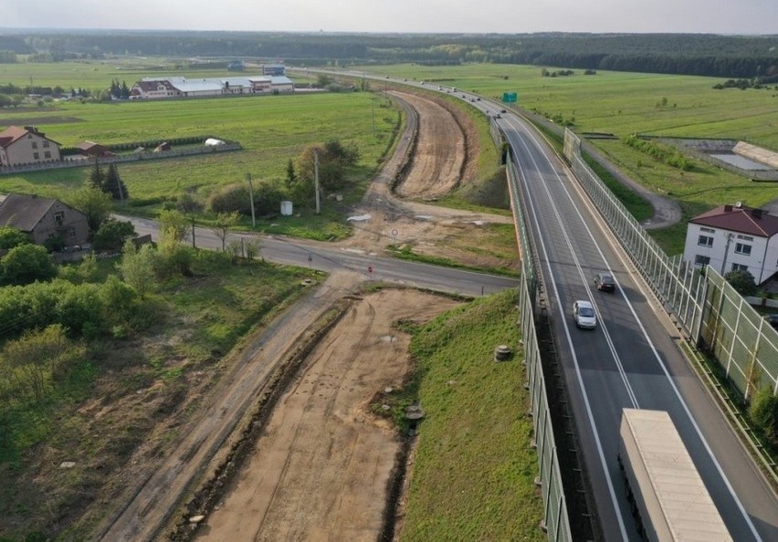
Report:
[[0,0],[0,27],[778,34],[778,0]]

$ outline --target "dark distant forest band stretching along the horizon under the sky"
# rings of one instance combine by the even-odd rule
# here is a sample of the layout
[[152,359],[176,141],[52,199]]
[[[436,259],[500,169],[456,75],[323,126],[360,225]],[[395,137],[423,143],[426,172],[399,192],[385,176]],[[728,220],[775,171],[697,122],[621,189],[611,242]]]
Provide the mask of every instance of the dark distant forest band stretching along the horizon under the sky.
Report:
[[236,57],[303,66],[468,62],[778,80],[778,35],[296,34],[0,30],[0,62],[79,57]]

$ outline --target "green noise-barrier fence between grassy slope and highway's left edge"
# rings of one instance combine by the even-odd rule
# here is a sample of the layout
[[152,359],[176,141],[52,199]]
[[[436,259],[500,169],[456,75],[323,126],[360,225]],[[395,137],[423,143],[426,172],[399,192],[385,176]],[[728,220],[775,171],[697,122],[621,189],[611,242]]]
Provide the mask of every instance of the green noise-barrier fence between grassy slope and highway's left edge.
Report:
[[530,391],[534,443],[538,451],[539,474],[537,483],[543,497],[543,526],[548,539],[573,540],[570,519],[562,486],[552,418],[548,404],[545,378],[541,364],[541,350],[535,330],[535,290],[537,289],[537,257],[530,244],[530,235],[524,220],[519,174],[508,159],[506,172],[510,190],[510,205],[515,217],[516,235],[520,239],[521,280],[519,287],[520,328],[524,338],[524,359],[527,364],[527,387]]

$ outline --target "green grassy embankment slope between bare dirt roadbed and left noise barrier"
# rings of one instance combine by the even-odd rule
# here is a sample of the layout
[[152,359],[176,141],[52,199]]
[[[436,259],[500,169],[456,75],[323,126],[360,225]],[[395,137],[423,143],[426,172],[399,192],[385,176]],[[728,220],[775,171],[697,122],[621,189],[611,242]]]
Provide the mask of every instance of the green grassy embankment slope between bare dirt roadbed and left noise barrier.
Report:
[[[401,539],[542,540],[537,457],[520,356],[515,294],[478,299],[415,334],[418,397],[426,412]],[[522,406],[524,405],[524,406]]]

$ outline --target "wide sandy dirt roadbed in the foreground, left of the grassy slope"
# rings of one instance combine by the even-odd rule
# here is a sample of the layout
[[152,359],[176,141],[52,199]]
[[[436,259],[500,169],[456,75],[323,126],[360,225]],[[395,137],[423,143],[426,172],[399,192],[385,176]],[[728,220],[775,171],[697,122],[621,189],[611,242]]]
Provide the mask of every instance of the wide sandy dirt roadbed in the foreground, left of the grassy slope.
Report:
[[409,338],[392,323],[455,305],[400,290],[355,302],[311,353],[198,539],[375,540],[399,442],[370,402],[409,369]]

